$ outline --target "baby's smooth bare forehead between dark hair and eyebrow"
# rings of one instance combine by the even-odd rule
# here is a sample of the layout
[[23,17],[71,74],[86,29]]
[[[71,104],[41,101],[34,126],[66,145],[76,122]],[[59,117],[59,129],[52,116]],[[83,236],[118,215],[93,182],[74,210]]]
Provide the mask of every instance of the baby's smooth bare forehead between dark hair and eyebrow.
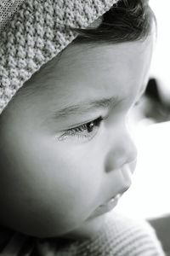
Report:
[[72,44],[26,83],[34,90],[24,104],[35,102],[29,108],[46,113],[73,103],[133,97],[144,83],[151,48],[149,37],[122,44]]

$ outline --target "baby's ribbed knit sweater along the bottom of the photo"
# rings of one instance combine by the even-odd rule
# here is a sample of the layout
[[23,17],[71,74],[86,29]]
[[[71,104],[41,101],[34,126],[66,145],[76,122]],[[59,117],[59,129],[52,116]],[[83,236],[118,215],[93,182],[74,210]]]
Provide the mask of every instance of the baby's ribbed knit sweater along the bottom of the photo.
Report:
[[[6,233],[5,235],[7,236]],[[1,255],[18,256],[20,253],[22,256],[165,256],[150,224],[116,212],[108,214],[103,229],[99,231],[98,236],[90,240],[48,239],[40,242],[39,239],[28,239],[26,242],[24,235],[15,236],[11,240],[5,243]],[[11,247],[13,254],[9,254]]]

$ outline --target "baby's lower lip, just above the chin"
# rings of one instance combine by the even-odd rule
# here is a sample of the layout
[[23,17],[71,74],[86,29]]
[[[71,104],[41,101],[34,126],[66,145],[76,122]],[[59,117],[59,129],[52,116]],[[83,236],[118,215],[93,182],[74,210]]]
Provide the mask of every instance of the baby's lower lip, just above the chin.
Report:
[[121,194],[116,195],[110,201],[106,202],[105,205],[99,206],[89,218],[98,217],[99,215],[110,212],[113,208],[116,207],[117,202],[119,201]]

